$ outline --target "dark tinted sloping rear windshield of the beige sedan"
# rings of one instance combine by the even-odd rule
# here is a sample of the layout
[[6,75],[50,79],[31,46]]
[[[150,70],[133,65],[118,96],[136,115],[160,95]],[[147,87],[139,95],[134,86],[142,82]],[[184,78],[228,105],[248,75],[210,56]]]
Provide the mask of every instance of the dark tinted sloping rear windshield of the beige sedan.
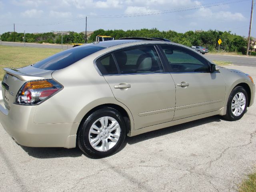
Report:
[[78,46],[39,61],[33,67],[45,70],[60,70],[104,48],[92,45]]

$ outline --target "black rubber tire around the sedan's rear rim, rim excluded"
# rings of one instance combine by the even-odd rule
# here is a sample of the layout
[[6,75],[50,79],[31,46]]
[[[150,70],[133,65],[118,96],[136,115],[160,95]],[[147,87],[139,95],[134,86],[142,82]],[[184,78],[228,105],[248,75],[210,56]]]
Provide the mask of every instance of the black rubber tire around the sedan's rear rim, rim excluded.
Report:
[[[120,137],[116,142],[116,144],[109,150],[98,151],[95,148],[93,148],[92,145],[90,144],[89,132],[94,122],[96,122],[98,119],[102,117],[111,117],[118,122],[120,126]],[[122,144],[124,143],[125,138],[126,138],[126,125],[124,122],[124,118],[122,117],[120,112],[118,112],[116,109],[105,107],[105,108],[96,110],[95,112],[90,114],[90,116],[88,116],[84,120],[84,122],[82,122],[81,128],[78,132],[78,146],[80,150],[82,150],[82,152],[84,152],[86,155],[92,158],[104,158],[118,152],[118,150],[120,150]],[[102,143],[99,143],[99,144],[102,144]]]

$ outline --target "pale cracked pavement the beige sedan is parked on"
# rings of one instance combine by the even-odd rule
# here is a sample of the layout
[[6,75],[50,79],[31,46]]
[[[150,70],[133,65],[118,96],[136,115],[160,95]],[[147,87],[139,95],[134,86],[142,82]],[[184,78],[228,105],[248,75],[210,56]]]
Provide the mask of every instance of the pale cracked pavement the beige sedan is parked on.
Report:
[[[256,81],[256,67],[228,68]],[[236,122],[212,116],[127,138],[102,159],[18,146],[2,125],[0,136],[1,192],[234,192],[256,168],[256,103]]]

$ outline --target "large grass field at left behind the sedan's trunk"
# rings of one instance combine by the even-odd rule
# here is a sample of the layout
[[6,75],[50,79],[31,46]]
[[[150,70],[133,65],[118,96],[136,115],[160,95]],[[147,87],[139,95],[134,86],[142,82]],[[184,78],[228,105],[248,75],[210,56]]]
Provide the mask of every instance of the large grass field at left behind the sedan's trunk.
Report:
[[60,49],[0,45],[0,80],[5,74],[3,68],[28,66],[60,51]]

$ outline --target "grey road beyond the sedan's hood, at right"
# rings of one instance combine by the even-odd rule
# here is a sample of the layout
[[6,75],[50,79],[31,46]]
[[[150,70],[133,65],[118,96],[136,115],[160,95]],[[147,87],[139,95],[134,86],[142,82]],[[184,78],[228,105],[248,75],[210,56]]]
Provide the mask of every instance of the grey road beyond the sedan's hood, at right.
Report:
[[232,62],[232,64],[238,65],[238,66],[256,67],[256,57],[227,56],[227,55],[215,55],[215,54],[204,54],[204,56],[210,60],[230,61]]

